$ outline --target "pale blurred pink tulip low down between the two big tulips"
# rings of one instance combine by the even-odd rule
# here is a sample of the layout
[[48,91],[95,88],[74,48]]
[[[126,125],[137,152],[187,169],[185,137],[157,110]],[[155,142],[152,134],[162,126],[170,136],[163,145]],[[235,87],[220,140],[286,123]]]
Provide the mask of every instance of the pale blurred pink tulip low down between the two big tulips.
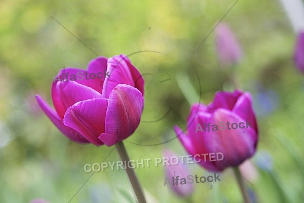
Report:
[[[188,175],[191,175],[188,171],[188,168],[186,167],[186,163],[182,163],[182,160],[171,150],[165,149],[163,151],[163,157],[169,158],[169,164],[165,166],[165,172],[166,172],[166,178],[170,181],[170,186],[173,189],[173,191],[178,194],[181,197],[189,196],[193,193],[193,184],[184,184],[184,185],[176,185],[171,182],[172,177],[179,176],[180,178],[187,178]],[[176,157],[175,159],[172,159],[172,157]],[[178,160],[178,161],[177,161]]]

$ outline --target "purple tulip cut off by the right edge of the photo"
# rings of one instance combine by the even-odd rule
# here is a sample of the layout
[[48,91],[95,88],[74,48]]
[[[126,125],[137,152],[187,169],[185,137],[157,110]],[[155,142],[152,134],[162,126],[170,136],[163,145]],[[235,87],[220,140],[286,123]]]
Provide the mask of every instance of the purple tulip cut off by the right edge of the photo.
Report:
[[298,34],[294,51],[294,61],[298,70],[304,73],[304,31]]

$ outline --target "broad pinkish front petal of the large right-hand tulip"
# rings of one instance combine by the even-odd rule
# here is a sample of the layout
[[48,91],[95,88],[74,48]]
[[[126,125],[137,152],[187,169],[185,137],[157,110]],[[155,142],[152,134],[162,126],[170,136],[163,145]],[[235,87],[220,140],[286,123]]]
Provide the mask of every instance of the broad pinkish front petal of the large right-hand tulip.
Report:
[[229,121],[230,128],[227,126],[224,130],[212,132],[212,139],[208,140],[209,147],[212,151],[221,152],[224,155],[224,161],[215,161],[217,168],[227,166],[237,166],[245,159],[251,157],[256,150],[257,133],[251,127],[232,129],[232,123],[245,123],[243,118],[237,114],[225,109],[218,109],[214,112],[214,123],[220,121]]

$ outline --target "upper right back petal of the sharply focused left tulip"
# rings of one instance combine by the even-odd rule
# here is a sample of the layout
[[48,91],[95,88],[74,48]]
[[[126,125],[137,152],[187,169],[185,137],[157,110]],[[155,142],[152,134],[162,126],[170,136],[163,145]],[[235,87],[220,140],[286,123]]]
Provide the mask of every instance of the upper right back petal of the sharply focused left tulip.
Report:
[[130,62],[127,56],[121,54],[109,58],[107,61],[110,78],[104,81],[102,95],[109,98],[113,88],[118,84],[126,84],[137,88],[141,94],[144,93],[144,80],[136,67]]

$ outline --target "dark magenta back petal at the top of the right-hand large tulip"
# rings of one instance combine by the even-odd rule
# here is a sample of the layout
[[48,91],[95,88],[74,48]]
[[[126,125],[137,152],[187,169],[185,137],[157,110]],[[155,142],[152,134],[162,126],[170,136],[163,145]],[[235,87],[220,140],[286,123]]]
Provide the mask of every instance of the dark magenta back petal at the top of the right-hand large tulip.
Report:
[[208,105],[207,111],[213,113],[218,108],[232,110],[242,94],[243,92],[240,90],[235,90],[234,92],[218,91],[215,93],[213,102]]

